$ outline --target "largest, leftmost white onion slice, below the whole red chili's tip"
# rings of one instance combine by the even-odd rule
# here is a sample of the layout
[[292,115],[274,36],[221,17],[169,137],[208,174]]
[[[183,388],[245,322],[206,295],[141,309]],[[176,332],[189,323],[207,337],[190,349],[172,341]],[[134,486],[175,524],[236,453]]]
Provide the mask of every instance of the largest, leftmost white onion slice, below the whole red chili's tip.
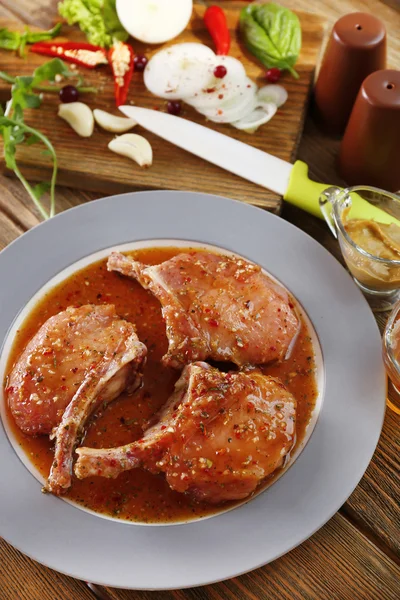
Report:
[[214,52],[203,44],[175,44],[157,52],[144,70],[147,89],[160,98],[185,100],[214,80]]

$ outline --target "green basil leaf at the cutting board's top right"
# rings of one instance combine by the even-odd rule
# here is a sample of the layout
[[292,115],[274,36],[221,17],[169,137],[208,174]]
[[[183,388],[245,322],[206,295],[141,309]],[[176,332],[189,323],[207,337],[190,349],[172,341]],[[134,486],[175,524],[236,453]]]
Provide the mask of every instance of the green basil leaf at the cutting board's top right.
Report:
[[301,25],[291,10],[272,2],[251,4],[241,11],[240,31],[248,50],[267,68],[287,69],[298,79],[293,67],[301,49]]

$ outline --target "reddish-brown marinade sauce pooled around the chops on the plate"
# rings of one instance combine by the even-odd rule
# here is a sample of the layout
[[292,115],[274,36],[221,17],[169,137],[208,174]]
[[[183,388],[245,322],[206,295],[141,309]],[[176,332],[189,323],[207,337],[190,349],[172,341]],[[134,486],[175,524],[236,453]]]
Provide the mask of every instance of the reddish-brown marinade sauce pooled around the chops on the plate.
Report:
[[[157,264],[187,250],[153,248],[131,254],[147,264]],[[159,302],[137,282],[109,273],[106,262],[104,259],[85,267],[46,294],[17,331],[7,368],[9,373],[28,341],[52,315],[68,306],[114,304],[121,317],[136,324],[140,340],[147,345],[148,357],[141,390],[134,396],[122,394],[103,413],[92,418],[84,445],[97,448],[119,446],[141,437],[141,425],[166,402],[179,377],[177,371],[160,363],[168,344]],[[317,398],[314,351],[303,318],[291,357],[282,364],[266,366],[263,371],[280,377],[297,399],[298,445],[304,438]],[[7,411],[18,444],[47,478],[53,460],[53,442],[47,436],[30,437],[22,433],[8,408]],[[173,492],[162,475],[151,475],[141,469],[111,480],[93,477],[80,481],[74,477],[66,497],[96,512],[129,521],[174,522],[221,510]],[[225,504],[223,508],[235,504]]]

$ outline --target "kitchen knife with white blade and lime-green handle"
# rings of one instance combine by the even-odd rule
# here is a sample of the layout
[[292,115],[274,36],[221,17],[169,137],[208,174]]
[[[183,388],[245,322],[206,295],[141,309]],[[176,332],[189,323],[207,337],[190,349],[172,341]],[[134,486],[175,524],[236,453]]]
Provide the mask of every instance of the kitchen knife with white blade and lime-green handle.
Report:
[[[308,166],[301,160],[292,165],[218,131],[157,110],[137,106],[120,106],[120,110],[144,129],[175,146],[276,192],[287,202],[322,218],[318,200],[330,186],[309,179]],[[351,216],[393,222],[393,217],[357,194],[352,194]]]

